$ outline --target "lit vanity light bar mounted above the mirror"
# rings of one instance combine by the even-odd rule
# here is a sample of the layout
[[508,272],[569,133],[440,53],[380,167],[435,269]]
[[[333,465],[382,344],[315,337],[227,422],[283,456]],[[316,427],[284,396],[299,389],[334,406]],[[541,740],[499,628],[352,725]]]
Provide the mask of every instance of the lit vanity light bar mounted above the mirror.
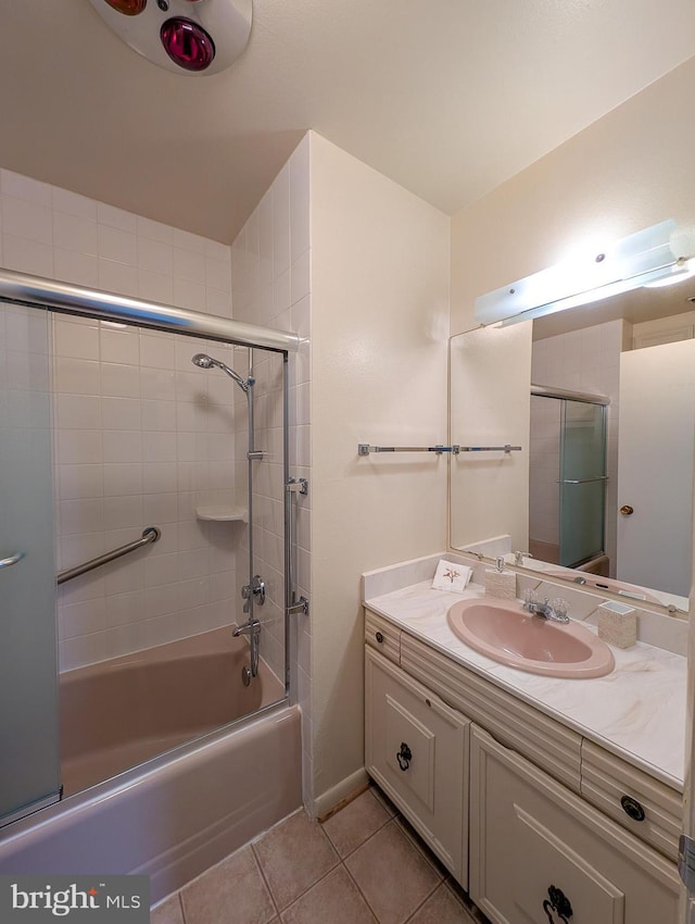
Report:
[[660,222],[602,248],[590,257],[558,263],[476,299],[476,320],[507,326],[568,308],[601,301],[662,280],[690,275],[693,253],[673,220]]

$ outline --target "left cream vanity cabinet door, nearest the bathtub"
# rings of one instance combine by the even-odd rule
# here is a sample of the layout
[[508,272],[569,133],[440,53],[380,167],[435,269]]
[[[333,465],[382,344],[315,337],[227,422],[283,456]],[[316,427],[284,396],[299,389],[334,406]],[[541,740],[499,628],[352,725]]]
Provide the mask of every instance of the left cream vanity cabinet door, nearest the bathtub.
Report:
[[370,648],[365,658],[367,772],[466,886],[470,723]]

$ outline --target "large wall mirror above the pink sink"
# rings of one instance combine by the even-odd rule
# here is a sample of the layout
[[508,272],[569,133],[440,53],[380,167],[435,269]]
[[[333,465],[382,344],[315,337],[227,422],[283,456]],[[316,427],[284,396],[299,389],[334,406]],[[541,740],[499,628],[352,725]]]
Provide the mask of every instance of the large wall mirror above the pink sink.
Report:
[[694,302],[685,279],[452,337],[453,549],[687,611]]

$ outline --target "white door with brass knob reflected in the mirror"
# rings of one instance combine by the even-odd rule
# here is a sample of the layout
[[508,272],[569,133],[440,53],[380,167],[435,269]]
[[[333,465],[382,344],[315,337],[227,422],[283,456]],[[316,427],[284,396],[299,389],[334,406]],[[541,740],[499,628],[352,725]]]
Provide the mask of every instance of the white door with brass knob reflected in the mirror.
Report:
[[687,597],[695,340],[621,353],[619,414],[617,577]]

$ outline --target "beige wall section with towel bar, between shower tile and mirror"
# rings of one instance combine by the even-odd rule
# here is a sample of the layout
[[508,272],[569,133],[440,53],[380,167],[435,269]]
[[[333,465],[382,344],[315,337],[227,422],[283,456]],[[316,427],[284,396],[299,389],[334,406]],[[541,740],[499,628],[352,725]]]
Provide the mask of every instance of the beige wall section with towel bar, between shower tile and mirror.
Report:
[[[364,765],[363,571],[445,546],[450,220],[312,134],[314,794]],[[333,795],[339,795],[333,791]],[[330,801],[330,799],[326,800]]]

